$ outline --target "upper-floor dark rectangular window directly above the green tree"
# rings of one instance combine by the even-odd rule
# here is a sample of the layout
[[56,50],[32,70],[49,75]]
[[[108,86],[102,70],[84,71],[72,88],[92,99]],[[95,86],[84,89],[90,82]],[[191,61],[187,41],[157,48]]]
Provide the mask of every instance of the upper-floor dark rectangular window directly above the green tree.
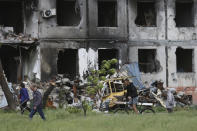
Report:
[[117,1],[98,1],[98,27],[117,27]]

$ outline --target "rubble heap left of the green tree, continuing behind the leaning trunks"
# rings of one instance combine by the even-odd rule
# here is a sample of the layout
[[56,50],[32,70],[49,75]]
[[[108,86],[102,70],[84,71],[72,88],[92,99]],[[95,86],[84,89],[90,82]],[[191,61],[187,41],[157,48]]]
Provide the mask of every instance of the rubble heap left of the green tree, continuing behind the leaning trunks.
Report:
[[[85,87],[87,85],[82,83],[82,81],[78,77],[74,80],[71,80],[69,78],[66,78],[65,75],[58,75],[53,77],[52,80],[49,82],[41,82],[39,80],[31,81],[29,79],[25,79],[23,83],[25,84],[25,87],[28,89],[30,101],[33,98],[33,92],[31,91],[30,86],[33,84],[36,84],[38,86],[38,90],[43,95],[44,107],[46,106],[53,109],[66,108],[68,106],[81,107],[83,99],[90,100],[86,95]],[[19,99],[17,99],[17,96],[19,96],[20,93],[20,84],[13,84],[11,86],[14,89],[12,94],[13,97],[15,97],[17,100],[16,103],[19,109],[20,102]],[[1,102],[4,102],[2,100],[5,96],[2,93],[0,94],[0,96],[0,98],[2,98],[0,99],[1,104]],[[28,104],[30,104],[30,101],[28,102]]]

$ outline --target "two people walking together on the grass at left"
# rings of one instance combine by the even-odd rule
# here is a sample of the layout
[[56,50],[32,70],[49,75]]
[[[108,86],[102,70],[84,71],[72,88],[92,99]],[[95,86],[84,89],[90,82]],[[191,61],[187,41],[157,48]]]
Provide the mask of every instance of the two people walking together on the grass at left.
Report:
[[37,90],[37,85],[29,85],[30,89],[33,91],[33,99],[32,99],[32,109],[30,109],[27,106],[27,102],[30,101],[28,89],[25,87],[25,82],[22,82],[20,84],[21,89],[20,89],[20,108],[21,108],[21,114],[24,113],[25,110],[28,110],[30,112],[29,118],[32,119],[33,116],[36,114],[36,112],[39,113],[41,118],[43,120],[46,120],[45,115],[42,111],[42,95],[41,93]]

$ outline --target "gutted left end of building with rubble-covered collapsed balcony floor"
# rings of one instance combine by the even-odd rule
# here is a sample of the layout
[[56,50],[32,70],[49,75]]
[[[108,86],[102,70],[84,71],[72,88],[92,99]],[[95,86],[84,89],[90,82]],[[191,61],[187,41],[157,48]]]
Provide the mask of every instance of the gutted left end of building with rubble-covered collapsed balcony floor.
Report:
[[32,57],[37,55],[38,16],[31,4],[28,0],[0,0],[0,58],[8,82],[17,83],[27,72],[31,76],[33,70],[38,72],[37,58]]

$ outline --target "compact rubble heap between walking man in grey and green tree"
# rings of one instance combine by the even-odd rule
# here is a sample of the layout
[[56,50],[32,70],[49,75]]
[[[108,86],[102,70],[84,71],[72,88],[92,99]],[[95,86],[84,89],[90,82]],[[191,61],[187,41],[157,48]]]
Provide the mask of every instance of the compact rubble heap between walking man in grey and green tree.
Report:
[[85,96],[85,85],[82,81],[78,77],[71,80],[66,75],[58,75],[48,83],[42,83],[41,89],[43,101],[47,107],[52,108],[81,104],[81,98]]

